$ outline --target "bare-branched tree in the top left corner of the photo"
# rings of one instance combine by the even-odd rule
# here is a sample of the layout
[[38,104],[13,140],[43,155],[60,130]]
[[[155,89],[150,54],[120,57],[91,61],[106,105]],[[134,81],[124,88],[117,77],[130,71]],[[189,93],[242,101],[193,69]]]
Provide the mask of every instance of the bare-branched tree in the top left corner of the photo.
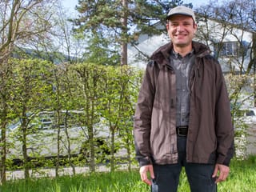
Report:
[[35,37],[39,38],[39,35],[44,34],[52,25],[48,22],[51,13],[47,12],[49,9],[46,9],[46,0],[1,1],[0,5],[0,61],[3,62],[14,50],[14,45],[27,45],[27,42]]

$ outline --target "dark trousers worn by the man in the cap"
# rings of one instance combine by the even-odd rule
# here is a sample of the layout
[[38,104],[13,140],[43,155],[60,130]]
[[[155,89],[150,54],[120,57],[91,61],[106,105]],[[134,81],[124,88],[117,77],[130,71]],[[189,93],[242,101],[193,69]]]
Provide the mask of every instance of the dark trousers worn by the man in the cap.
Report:
[[[212,174],[214,165],[186,162],[186,137],[178,137],[178,163],[154,164],[154,181],[151,192],[177,192],[182,166],[190,183],[191,192],[217,192]],[[202,146],[203,147],[203,146]]]

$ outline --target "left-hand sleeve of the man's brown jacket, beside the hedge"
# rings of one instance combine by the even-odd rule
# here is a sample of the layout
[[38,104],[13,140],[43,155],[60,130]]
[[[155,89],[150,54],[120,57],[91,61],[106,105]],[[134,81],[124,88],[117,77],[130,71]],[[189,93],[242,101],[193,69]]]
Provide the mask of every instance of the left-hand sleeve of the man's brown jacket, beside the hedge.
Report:
[[140,166],[152,164],[150,153],[151,114],[154,103],[154,62],[149,62],[138,94],[134,114],[134,142]]

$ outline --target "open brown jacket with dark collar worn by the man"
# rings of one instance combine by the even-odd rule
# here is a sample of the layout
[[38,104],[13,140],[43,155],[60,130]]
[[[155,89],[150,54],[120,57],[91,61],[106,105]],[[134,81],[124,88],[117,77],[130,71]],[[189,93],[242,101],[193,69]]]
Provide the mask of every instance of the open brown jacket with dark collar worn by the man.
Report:
[[[193,42],[190,74],[190,122],[186,160],[229,166],[234,154],[230,101],[221,66],[207,46]],[[134,115],[136,158],[140,166],[178,162],[176,78],[168,43],[154,52],[146,67]]]

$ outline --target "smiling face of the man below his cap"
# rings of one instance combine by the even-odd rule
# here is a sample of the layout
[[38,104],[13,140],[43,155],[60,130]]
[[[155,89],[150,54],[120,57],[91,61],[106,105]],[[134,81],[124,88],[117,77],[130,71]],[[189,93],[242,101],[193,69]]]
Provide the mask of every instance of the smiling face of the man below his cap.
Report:
[[197,25],[190,16],[176,14],[168,20],[166,28],[174,46],[182,48],[191,46]]

